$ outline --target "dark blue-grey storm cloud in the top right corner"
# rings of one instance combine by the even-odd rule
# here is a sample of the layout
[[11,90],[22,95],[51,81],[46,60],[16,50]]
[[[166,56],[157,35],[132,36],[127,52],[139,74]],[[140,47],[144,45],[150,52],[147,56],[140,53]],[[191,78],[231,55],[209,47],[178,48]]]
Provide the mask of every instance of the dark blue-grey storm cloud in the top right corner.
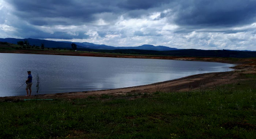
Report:
[[223,26],[256,21],[255,0],[191,0],[176,7],[181,26]]

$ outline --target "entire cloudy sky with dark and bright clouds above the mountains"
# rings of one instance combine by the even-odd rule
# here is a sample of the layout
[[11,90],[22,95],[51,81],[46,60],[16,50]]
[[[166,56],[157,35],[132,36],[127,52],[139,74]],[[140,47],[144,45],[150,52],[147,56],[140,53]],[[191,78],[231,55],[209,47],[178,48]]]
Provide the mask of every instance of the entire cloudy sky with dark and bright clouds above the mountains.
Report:
[[0,0],[0,38],[256,50],[255,0]]

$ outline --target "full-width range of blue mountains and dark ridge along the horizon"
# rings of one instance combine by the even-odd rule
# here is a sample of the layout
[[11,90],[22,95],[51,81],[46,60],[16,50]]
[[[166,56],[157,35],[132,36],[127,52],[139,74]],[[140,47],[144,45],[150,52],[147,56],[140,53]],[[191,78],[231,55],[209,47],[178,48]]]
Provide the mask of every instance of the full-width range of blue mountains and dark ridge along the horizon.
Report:
[[[17,44],[18,41],[24,39],[5,38],[0,42],[8,42]],[[114,47],[107,45],[96,45],[89,42],[57,42],[51,40],[31,39],[27,41],[30,45],[41,46],[44,43],[45,47],[50,48],[66,48],[71,49],[71,43],[76,43],[77,50],[94,51],[101,53],[119,53],[119,54],[143,54],[143,55],[166,55],[166,56],[181,56],[181,57],[236,57],[249,58],[256,57],[256,51],[248,50],[198,50],[198,49],[176,49],[166,46],[142,45],[136,47]]]

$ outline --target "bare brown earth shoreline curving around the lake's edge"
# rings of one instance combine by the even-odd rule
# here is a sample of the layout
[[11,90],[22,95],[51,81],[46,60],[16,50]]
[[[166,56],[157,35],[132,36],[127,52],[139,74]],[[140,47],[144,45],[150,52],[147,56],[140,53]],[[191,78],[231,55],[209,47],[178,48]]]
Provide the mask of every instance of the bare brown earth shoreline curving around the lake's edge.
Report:
[[[23,52],[25,53],[25,52]],[[31,53],[29,53],[31,54]],[[38,54],[38,53],[36,53]],[[42,54],[42,53],[40,53]],[[52,54],[52,53],[51,53]],[[74,53],[71,53],[74,54]],[[57,54],[61,55],[61,54]],[[67,53],[62,55],[68,55]],[[56,94],[40,94],[40,99],[82,99],[88,96],[99,96],[101,94],[111,95],[124,95],[127,93],[153,93],[157,91],[161,92],[178,92],[188,91],[194,89],[204,89],[213,87],[220,84],[237,83],[239,82],[239,76],[245,73],[256,73],[256,61],[255,58],[241,58],[238,61],[230,61],[229,58],[196,58],[196,57],[164,57],[164,56],[138,56],[138,55],[115,55],[115,54],[94,54],[91,53],[78,53],[77,56],[95,56],[95,57],[120,57],[120,58],[152,58],[152,59],[173,59],[173,60],[186,60],[186,61],[208,61],[208,62],[222,62],[237,64],[230,72],[218,72],[218,73],[204,73],[196,74],[188,77],[178,78],[175,80],[157,82],[149,85],[133,86],[127,88],[96,90],[96,91],[84,91],[84,92],[67,92]],[[12,101],[23,99],[34,99],[35,96],[10,96],[0,97],[0,101]]]

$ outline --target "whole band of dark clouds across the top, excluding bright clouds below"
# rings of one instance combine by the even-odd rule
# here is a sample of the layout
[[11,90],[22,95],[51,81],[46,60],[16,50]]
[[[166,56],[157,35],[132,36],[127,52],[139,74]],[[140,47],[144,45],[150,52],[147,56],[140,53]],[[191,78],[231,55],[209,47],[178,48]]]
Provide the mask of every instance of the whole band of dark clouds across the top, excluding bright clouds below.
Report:
[[172,12],[162,12],[159,18],[175,13],[174,22],[180,26],[227,27],[256,20],[255,0],[9,0],[8,3],[15,8],[16,16],[38,26],[84,24],[97,20],[94,15],[99,13],[114,13],[112,20],[124,13],[130,18],[140,18],[166,8]]

